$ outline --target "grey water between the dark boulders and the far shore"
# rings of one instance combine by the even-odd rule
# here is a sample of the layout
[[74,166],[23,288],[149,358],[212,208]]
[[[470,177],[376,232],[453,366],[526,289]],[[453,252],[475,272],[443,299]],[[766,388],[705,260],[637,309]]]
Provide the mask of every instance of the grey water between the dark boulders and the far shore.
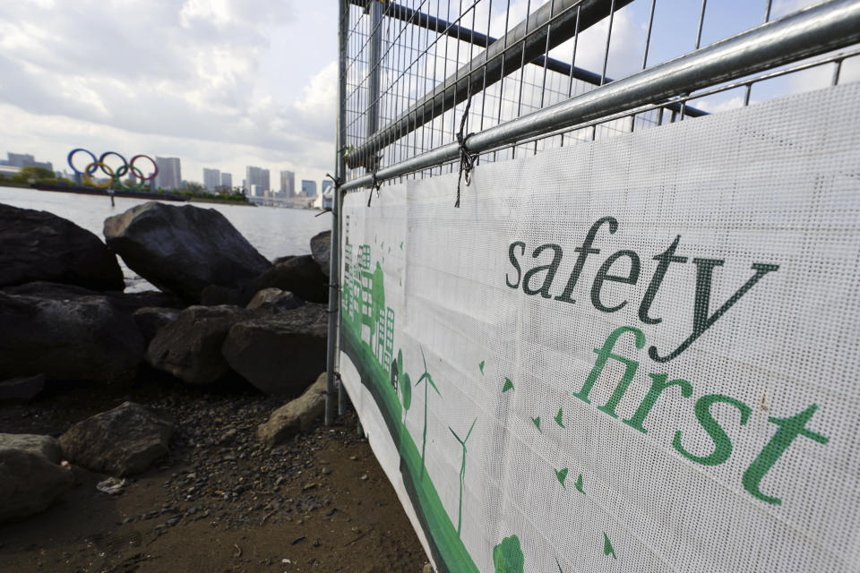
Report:
[[[116,207],[111,207],[110,200],[106,196],[0,187],[0,203],[22,209],[54,213],[94,233],[102,241],[104,241],[102,228],[106,218],[145,202],[147,201],[142,199],[116,197]],[[168,205],[188,204],[176,201],[164,202]],[[320,217],[314,217],[319,213],[316,210],[189,202],[203,209],[218,210],[262,256],[269,260],[288,254],[311,252],[311,237],[331,228],[331,215],[326,213]],[[125,274],[126,291],[155,289],[133,270],[128,269],[122,259],[119,259],[119,262]]]

